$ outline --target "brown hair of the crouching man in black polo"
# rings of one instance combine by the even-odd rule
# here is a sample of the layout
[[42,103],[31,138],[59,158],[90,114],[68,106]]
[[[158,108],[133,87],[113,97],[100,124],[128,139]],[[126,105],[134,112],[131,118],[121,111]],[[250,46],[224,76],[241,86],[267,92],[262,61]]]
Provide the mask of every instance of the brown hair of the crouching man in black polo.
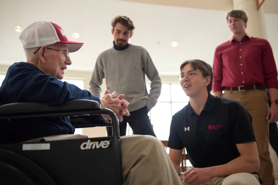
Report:
[[207,86],[207,90],[210,93],[210,91],[212,90],[212,83],[213,83],[212,67],[208,63],[202,60],[193,59],[193,60],[187,60],[183,62],[180,66],[180,71],[182,71],[183,67],[186,66],[187,64],[190,64],[194,70],[199,69],[200,71],[202,71],[204,77],[210,76],[210,83]]

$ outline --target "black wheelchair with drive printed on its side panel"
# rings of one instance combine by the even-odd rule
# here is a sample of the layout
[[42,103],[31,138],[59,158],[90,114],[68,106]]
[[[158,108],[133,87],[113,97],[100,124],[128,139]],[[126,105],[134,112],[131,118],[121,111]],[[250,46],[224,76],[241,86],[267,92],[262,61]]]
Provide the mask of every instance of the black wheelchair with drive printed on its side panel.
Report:
[[[107,114],[102,123],[87,118]],[[122,163],[119,120],[93,100],[75,99],[62,106],[41,103],[11,103],[0,106],[0,124],[11,119],[69,116],[75,128],[112,127],[112,136],[4,143],[0,145],[0,181],[21,185],[121,185]]]

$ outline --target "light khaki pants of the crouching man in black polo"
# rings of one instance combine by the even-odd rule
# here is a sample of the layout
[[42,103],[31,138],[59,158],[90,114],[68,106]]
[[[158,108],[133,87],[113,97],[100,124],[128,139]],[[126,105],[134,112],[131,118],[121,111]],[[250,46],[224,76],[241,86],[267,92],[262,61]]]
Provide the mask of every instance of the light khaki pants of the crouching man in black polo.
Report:
[[[187,185],[187,183],[183,183]],[[259,176],[251,173],[236,173],[228,177],[216,177],[199,185],[260,185]]]

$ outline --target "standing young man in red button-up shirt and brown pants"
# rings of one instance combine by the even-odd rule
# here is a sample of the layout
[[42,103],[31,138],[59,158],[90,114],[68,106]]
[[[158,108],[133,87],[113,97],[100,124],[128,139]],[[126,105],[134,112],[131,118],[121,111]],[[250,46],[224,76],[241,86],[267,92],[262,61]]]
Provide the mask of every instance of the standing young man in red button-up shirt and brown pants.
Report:
[[[272,48],[267,40],[246,34],[248,17],[244,11],[232,10],[226,19],[233,37],[215,50],[213,92],[238,101],[249,111],[260,158],[259,176],[263,184],[275,185],[268,151],[268,122],[278,121],[278,81]],[[269,110],[265,89],[272,102]]]

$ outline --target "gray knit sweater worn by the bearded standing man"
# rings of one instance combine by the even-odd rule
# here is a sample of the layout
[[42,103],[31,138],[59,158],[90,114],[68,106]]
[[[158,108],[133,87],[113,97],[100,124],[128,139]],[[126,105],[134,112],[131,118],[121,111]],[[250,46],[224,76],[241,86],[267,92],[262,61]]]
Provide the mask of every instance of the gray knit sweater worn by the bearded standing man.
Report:
[[[145,74],[151,81],[150,94],[146,89]],[[90,92],[100,98],[100,86],[105,78],[107,89],[117,96],[124,94],[129,102],[128,111],[147,106],[150,111],[160,96],[161,79],[149,53],[141,46],[129,45],[125,50],[114,47],[102,52],[95,63]]]

